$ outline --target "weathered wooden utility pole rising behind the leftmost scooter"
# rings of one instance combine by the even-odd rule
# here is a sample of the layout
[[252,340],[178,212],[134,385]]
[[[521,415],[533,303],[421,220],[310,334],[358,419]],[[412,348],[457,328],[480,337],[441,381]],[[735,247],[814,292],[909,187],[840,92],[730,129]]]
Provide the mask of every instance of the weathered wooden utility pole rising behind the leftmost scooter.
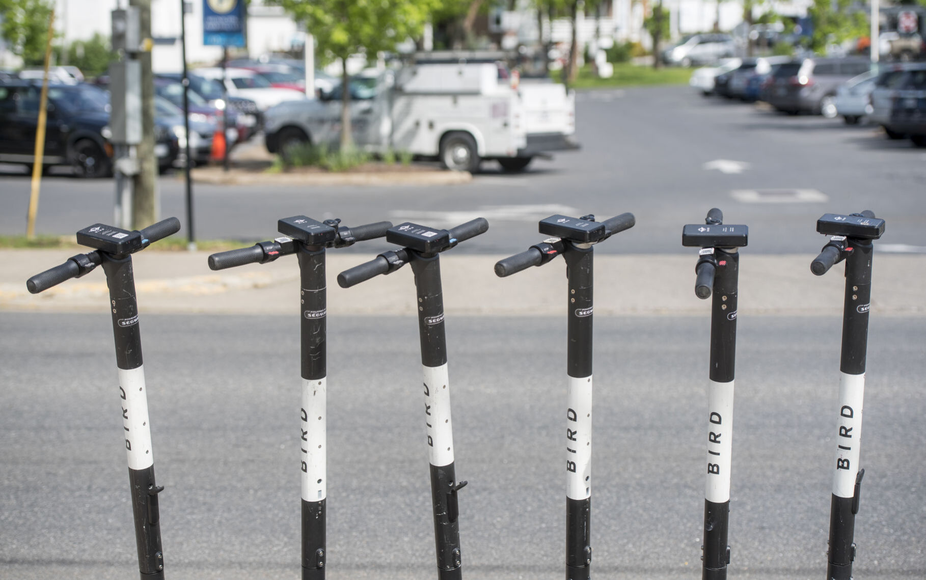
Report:
[[157,221],[160,203],[157,195],[157,158],[155,156],[155,83],[151,72],[151,0],[129,0],[139,9],[139,31],[144,50],[142,64],[142,141],[138,144],[139,172],[132,176],[134,199],[131,224],[141,229]]

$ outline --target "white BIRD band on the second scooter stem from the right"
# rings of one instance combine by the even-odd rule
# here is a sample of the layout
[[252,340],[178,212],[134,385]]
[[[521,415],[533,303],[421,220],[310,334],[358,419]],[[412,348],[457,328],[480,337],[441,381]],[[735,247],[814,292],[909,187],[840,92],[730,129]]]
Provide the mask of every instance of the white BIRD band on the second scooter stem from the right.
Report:
[[733,448],[733,381],[707,387],[707,501],[730,500]]

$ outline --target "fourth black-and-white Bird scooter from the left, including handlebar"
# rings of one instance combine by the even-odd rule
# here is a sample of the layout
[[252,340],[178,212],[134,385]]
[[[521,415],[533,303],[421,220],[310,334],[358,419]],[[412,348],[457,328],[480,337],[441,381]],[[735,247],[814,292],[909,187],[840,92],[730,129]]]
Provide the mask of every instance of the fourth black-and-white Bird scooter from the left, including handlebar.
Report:
[[569,278],[566,411],[566,579],[589,580],[592,570],[592,293],[594,244],[633,227],[633,214],[604,222],[594,216],[549,216],[540,233],[553,236],[495,264],[500,278],[562,254]]

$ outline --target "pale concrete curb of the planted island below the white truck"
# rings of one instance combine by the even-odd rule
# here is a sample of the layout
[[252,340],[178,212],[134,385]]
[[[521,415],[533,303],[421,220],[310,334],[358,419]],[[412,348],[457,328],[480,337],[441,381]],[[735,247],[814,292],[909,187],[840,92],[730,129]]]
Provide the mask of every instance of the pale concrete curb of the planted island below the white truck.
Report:
[[221,167],[204,167],[193,170],[197,183],[216,185],[459,185],[469,183],[468,171],[422,170],[382,171],[376,173],[256,173],[232,169],[228,173]]

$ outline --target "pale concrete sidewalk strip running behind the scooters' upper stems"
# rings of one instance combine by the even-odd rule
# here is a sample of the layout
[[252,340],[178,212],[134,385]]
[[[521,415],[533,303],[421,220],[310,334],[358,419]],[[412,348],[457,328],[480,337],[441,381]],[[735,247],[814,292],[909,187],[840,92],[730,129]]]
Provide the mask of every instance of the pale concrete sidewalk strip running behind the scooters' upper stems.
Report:
[[[105,312],[106,278],[97,268],[41,294],[26,279],[61,264],[75,250],[0,250],[0,311]],[[293,257],[266,265],[213,272],[205,252],[147,251],[133,256],[142,313],[292,315],[299,271]],[[328,253],[328,312],[332,315],[413,315],[411,268],[406,266],[344,290],[336,277],[368,254]],[[566,300],[562,260],[497,278],[503,256],[443,256],[444,307],[452,315],[561,315]],[[741,262],[740,312],[770,315],[841,315],[843,265],[823,277],[810,273],[807,255],[748,255]],[[706,315],[694,296],[696,255],[595,257],[595,314]],[[877,254],[871,312],[926,315],[926,256]]]

